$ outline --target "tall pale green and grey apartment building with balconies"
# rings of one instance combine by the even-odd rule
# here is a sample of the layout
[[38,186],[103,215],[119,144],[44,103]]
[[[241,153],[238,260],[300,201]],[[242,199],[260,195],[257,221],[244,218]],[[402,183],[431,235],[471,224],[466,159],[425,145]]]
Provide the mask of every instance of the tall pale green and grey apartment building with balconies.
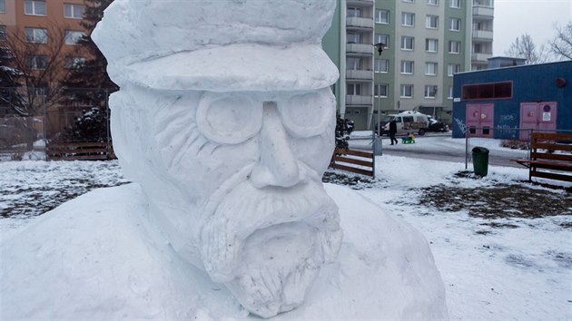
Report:
[[340,35],[336,96],[358,130],[410,110],[450,122],[453,74],[486,68],[492,56],[493,0],[339,0],[338,7],[332,29],[339,30],[330,30]]

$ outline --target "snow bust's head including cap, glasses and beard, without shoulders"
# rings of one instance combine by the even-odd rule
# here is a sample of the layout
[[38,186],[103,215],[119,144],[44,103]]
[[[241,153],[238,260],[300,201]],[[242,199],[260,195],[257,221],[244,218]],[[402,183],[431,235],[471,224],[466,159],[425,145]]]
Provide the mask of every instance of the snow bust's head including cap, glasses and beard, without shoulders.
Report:
[[[94,40],[121,87],[113,144],[178,256],[251,313],[301,305],[337,257],[321,176],[338,72],[335,0],[115,0]],[[121,30],[121,32],[117,32]]]

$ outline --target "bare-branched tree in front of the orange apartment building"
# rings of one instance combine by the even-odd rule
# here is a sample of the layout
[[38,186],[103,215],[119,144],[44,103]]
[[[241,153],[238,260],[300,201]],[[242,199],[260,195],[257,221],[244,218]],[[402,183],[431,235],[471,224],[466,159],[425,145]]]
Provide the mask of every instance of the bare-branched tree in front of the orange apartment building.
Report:
[[65,79],[70,69],[66,60],[81,48],[66,46],[65,27],[51,24],[46,28],[15,28],[7,34],[2,46],[10,56],[9,68],[18,74],[22,85],[18,103],[13,103],[15,113],[21,116],[36,115],[44,104],[50,106],[61,99]]

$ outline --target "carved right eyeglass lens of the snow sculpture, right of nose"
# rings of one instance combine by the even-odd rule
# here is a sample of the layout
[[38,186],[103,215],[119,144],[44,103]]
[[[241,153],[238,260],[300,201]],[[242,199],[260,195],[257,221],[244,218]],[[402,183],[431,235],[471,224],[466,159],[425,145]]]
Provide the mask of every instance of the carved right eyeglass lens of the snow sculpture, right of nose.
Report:
[[294,137],[310,137],[326,131],[334,121],[335,98],[330,89],[305,92],[279,103],[282,123]]

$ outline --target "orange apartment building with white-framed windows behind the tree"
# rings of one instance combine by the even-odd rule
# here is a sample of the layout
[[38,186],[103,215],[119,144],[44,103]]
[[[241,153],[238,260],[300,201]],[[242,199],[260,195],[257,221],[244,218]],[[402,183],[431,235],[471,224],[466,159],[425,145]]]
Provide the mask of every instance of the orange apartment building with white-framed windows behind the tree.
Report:
[[42,72],[48,63],[72,68],[84,61],[75,48],[84,34],[84,8],[83,0],[0,0],[0,40],[19,37],[22,46],[33,44],[21,51],[32,70]]

